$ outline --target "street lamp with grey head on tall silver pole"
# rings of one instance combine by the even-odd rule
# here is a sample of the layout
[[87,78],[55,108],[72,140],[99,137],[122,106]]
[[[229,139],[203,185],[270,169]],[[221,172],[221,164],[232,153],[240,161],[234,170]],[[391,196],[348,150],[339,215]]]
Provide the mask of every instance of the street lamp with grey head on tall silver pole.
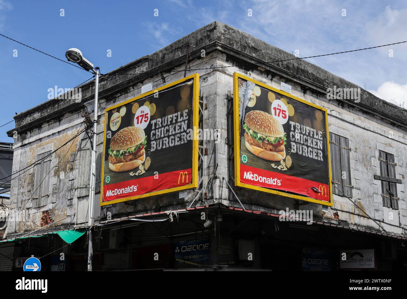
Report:
[[88,205],[88,271],[92,271],[92,225],[93,225],[93,203],[95,198],[95,181],[96,181],[96,125],[98,122],[98,85],[99,85],[99,68],[94,68],[93,64],[83,57],[82,52],[77,48],[70,48],[65,53],[68,61],[79,64],[83,69],[92,71],[95,74],[95,105],[93,111],[93,144],[90,164],[89,178],[89,205]]

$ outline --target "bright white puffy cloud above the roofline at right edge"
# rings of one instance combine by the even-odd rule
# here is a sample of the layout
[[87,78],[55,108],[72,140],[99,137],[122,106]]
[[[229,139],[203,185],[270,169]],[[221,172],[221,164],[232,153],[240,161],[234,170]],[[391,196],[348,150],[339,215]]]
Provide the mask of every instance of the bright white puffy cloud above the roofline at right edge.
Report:
[[386,81],[377,90],[368,90],[368,92],[397,106],[407,107],[407,83],[402,85],[394,81]]

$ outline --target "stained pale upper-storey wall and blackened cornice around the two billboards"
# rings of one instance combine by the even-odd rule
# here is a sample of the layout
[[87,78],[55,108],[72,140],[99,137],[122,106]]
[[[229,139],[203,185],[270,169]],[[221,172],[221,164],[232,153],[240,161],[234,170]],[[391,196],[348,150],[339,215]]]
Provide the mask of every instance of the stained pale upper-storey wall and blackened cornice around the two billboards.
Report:
[[[223,177],[227,178],[230,171],[229,145],[226,144],[228,137],[226,94],[232,91],[232,74],[236,71],[277,88],[283,81],[292,85],[294,96],[328,109],[329,130],[350,139],[353,200],[373,218],[396,225],[384,225],[386,230],[395,234],[403,233],[400,226],[407,225],[405,205],[407,158],[404,154],[407,150],[406,110],[384,102],[363,89],[360,103],[350,100],[327,100],[326,88],[328,87],[357,86],[306,61],[266,63],[266,61],[288,59],[293,56],[219,22],[211,23],[148,57],[142,57],[102,76],[98,132],[103,131],[103,111],[106,107],[139,95],[142,85],[153,83],[153,88],[157,88],[182,78],[186,42],[195,44],[194,50],[190,52],[189,69],[201,69],[188,71],[187,75],[194,72],[200,74],[200,94],[207,106],[204,118],[205,128],[217,129],[221,133],[219,144],[216,145],[213,140],[206,141],[208,155],[205,156],[204,161],[206,174],[204,183],[209,182],[208,194],[203,202],[196,201],[194,205],[223,203],[228,206],[240,206],[223,180]],[[205,52],[204,56],[202,50]],[[258,69],[259,65],[264,69],[263,71]],[[214,69],[219,66],[228,66],[228,68]],[[144,71],[148,73],[123,76],[123,74]],[[155,72],[156,75],[151,75]],[[35,154],[56,149],[77,133],[83,121],[79,116],[81,109],[88,107],[89,112],[92,113],[92,82],[82,86],[82,94],[81,103],[75,103],[74,100],[54,99],[15,117],[16,128],[8,132],[10,136],[14,131],[18,133],[18,137],[15,138],[13,172],[33,163]],[[392,131],[392,139],[388,137],[389,131]],[[101,133],[98,133],[97,139],[100,147]],[[78,152],[86,148],[86,140],[86,135],[82,134],[75,139],[69,150],[70,145],[67,145],[53,154],[51,167],[58,165],[50,172],[48,205],[30,208],[33,170],[23,173],[12,181],[11,209],[13,212],[24,212],[23,214],[27,216],[24,221],[10,223],[7,227],[8,235],[37,229],[46,211],[49,211],[48,214],[53,221],[72,215],[55,226],[67,227],[85,223],[88,197],[78,197],[80,193],[78,190],[85,187],[79,182],[79,177],[81,173],[83,175],[83,171],[88,171],[88,168]],[[396,157],[397,178],[403,182],[398,184],[399,210],[387,211],[382,206],[380,182],[373,179],[373,175],[380,174],[377,159],[379,150],[394,153]],[[61,172],[64,173],[63,176]],[[212,176],[213,180],[210,180]],[[188,196],[184,199],[179,199],[178,193],[174,193],[132,201],[132,205],[118,203],[102,208],[96,201],[96,220],[106,219],[107,212],[111,212],[112,217],[116,218],[140,214],[140,212],[183,209],[189,205],[196,194],[196,190],[189,190]],[[304,204],[297,200],[252,190],[240,189],[236,190],[236,194],[250,210],[278,213],[286,207],[308,209],[313,211],[314,217],[324,218],[324,221],[330,223],[361,229],[379,229],[372,220],[355,215],[363,213],[343,196],[334,195],[334,206],[325,208],[317,204]],[[96,199],[99,196],[96,195]],[[335,209],[347,212],[337,212]],[[394,212],[393,220],[387,219],[389,212]],[[334,213],[338,214],[334,215]]]

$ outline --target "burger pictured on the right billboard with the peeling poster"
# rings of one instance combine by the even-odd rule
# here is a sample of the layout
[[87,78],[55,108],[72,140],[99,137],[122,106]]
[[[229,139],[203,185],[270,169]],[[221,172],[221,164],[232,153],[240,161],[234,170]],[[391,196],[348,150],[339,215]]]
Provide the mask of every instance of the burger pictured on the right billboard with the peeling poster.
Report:
[[245,123],[246,148],[259,158],[280,161],[285,158],[287,135],[280,122],[271,114],[253,110],[246,114]]

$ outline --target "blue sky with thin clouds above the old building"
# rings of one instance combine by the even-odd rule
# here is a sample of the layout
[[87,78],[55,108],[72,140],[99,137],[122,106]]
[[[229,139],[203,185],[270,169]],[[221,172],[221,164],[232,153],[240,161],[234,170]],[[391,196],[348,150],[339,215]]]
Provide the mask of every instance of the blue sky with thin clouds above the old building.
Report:
[[[287,52],[299,50],[300,57],[407,40],[405,1],[0,0],[0,33],[63,60],[68,48],[80,48],[102,73],[149,55],[214,20]],[[109,49],[112,57],[107,57]],[[307,60],[403,105],[406,50],[407,44],[401,44]],[[0,125],[12,120],[15,112],[48,100],[48,88],[74,87],[91,76],[0,37]],[[1,127],[0,141],[13,142],[5,133],[13,128],[14,122]]]

